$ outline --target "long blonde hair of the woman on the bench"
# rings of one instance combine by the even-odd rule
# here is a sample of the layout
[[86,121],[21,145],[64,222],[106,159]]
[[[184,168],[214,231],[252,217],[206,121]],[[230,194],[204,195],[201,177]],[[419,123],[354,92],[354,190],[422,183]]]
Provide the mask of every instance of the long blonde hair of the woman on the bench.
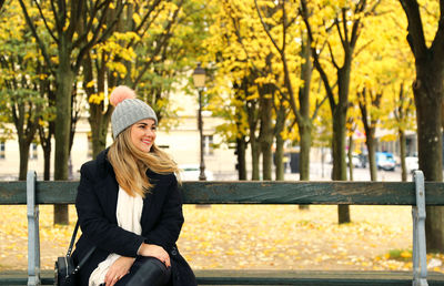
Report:
[[149,153],[142,152],[131,141],[131,129],[121,132],[108,152],[115,180],[119,185],[131,196],[135,194],[145,196],[153,187],[147,177],[147,170],[158,174],[179,175],[178,164],[155,144]]

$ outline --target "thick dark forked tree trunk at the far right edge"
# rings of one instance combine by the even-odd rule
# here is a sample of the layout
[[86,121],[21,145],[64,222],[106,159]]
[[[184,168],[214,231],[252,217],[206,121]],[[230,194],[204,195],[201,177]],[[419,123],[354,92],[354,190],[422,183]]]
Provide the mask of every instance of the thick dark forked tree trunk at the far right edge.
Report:
[[[413,94],[416,105],[420,168],[426,181],[443,180],[441,116],[444,82],[444,27],[442,18],[433,42],[427,47],[417,1],[400,0],[407,16],[407,41],[415,57],[416,79]],[[443,10],[444,3],[440,1]],[[427,251],[444,251],[444,208],[427,206],[425,233]]]

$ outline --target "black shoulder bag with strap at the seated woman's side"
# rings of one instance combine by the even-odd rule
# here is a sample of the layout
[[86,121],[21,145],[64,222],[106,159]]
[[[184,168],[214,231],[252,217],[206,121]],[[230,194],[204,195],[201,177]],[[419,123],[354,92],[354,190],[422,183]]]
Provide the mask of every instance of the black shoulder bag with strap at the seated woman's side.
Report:
[[72,259],[71,252],[72,246],[74,245],[77,231],[79,229],[79,222],[77,222],[74,232],[71,237],[71,243],[68,248],[68,253],[65,256],[57,257],[56,267],[54,267],[54,285],[56,286],[74,286],[75,285],[75,276],[79,272],[80,267],[87,262],[87,259],[94,252],[95,247],[92,247],[83,259],[75,266],[74,261]]

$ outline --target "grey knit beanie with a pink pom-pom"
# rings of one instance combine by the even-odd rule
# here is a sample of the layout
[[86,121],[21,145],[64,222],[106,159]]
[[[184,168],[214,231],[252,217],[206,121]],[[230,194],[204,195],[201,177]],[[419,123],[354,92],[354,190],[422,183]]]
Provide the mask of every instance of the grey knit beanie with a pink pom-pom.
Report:
[[117,86],[110,102],[115,106],[111,115],[112,136],[115,139],[123,130],[143,119],[152,119],[158,124],[158,116],[153,109],[141,100],[135,99],[135,93],[128,86]]

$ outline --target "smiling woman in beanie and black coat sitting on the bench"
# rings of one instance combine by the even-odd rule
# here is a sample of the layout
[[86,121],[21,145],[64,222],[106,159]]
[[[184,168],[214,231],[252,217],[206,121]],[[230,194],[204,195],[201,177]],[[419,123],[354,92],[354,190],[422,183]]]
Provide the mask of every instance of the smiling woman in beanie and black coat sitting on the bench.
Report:
[[155,146],[155,112],[128,86],[115,88],[110,102],[114,142],[80,171],[82,235],[72,256],[79,262],[95,248],[80,284],[194,286],[175,244],[184,222],[179,168]]

